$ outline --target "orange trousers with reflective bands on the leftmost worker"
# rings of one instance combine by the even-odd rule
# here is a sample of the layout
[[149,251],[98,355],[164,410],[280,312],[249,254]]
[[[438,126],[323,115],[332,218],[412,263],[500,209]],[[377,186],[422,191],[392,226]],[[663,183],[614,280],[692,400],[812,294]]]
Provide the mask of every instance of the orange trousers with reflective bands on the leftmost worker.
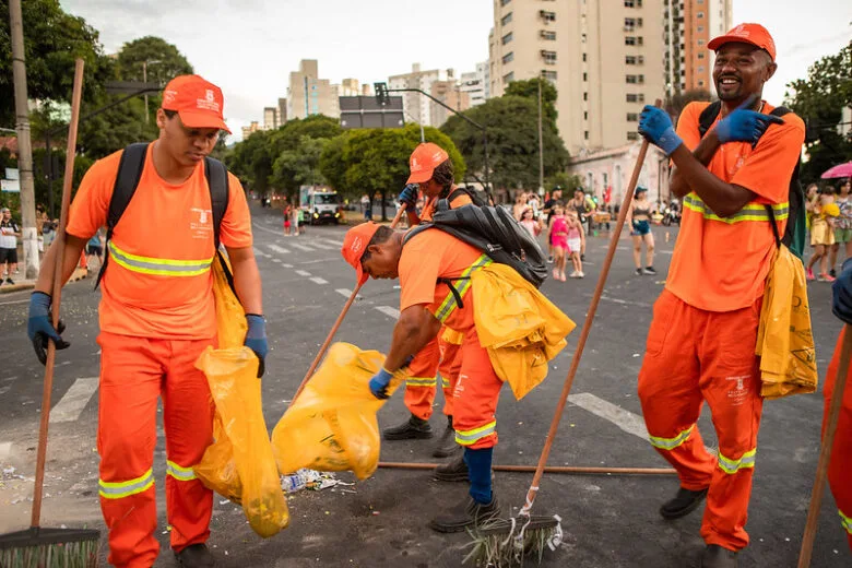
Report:
[[171,548],[210,535],[213,493],[192,471],[213,441],[214,405],[194,366],[210,340],[157,340],[102,332],[97,449],[100,510],[111,565],[149,568],[159,543],[154,489],[157,399],[166,433],[166,509]]

